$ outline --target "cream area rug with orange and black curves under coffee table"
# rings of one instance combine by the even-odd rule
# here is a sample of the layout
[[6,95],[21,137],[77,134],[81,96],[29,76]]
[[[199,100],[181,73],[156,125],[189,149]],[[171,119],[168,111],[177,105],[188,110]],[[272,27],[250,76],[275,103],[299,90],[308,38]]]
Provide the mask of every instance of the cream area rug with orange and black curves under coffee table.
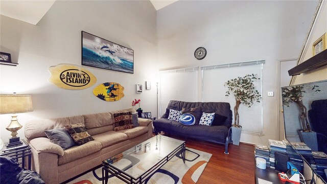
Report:
[[[185,164],[181,159],[180,152],[178,152],[145,183],[196,183],[212,154],[186,147],[185,155]],[[68,183],[100,184],[102,183],[102,168],[90,171]],[[109,178],[108,183],[120,184],[125,182],[113,176]]]

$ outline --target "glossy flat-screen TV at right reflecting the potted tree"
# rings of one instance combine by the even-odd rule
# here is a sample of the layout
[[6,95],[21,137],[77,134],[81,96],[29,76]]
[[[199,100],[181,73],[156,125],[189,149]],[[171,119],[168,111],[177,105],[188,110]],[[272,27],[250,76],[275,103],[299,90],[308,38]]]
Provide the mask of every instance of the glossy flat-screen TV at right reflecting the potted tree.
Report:
[[286,139],[311,148],[296,153],[327,182],[327,80],[282,87],[282,100]]

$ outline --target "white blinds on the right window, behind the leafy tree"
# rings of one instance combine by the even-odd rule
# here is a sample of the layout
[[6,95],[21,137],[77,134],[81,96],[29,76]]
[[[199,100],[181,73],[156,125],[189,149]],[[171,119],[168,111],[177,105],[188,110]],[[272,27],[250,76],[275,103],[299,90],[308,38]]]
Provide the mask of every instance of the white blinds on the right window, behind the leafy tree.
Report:
[[[202,101],[228,102],[233,111],[236,101],[231,94],[226,97],[227,86],[224,83],[230,79],[244,77],[247,74],[257,74],[260,80],[254,81],[256,89],[262,94],[262,68],[265,60],[240,63],[202,66]],[[239,107],[240,125],[243,131],[263,133],[262,101],[255,102],[250,108],[241,104]],[[234,116],[234,112],[233,112]],[[234,121],[234,117],[233,121]],[[232,123],[233,123],[232,121]]]

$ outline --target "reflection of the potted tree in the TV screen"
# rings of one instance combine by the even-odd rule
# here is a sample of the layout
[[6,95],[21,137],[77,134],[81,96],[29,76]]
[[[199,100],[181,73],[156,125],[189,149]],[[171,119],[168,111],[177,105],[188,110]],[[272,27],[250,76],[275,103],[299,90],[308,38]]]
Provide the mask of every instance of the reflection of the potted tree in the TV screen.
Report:
[[314,90],[315,93],[320,91],[317,85],[297,85],[283,87],[282,98],[283,105],[290,107],[292,103],[295,103],[299,108],[299,122],[301,125],[300,130],[297,130],[301,141],[303,141],[307,146],[309,146],[313,151],[318,149],[317,134],[313,132],[308,121],[307,107],[303,104],[302,98],[303,94],[306,93],[306,89]]

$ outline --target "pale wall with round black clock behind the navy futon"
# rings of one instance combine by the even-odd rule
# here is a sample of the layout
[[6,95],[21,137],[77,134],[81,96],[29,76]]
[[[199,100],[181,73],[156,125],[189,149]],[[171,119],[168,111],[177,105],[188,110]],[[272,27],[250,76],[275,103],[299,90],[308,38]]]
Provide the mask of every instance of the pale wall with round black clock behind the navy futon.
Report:
[[[267,97],[267,91],[279,90],[277,60],[298,57],[317,4],[317,1],[178,1],[157,11],[159,70],[265,59],[265,135],[242,133],[241,141],[268,144],[268,139],[278,140],[278,99]],[[198,47],[207,50],[203,60],[194,58]],[[201,88],[198,94],[201,101]]]

